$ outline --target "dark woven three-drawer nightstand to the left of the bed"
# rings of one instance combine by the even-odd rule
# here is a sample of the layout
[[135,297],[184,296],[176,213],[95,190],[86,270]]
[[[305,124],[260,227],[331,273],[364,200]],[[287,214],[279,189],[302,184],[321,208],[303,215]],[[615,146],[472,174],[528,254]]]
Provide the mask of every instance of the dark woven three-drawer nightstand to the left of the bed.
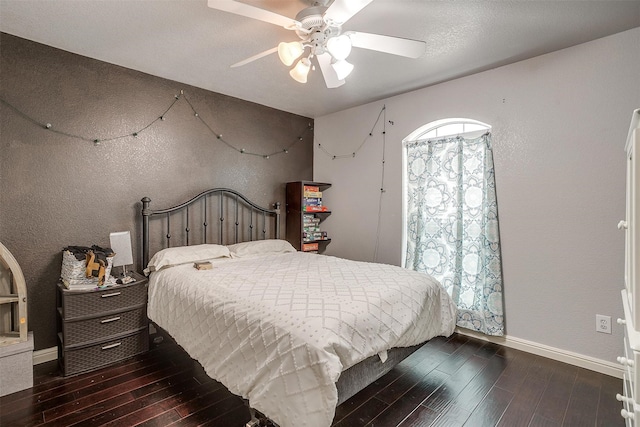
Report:
[[95,290],[58,284],[58,360],[64,376],[91,371],[149,349],[148,279]]

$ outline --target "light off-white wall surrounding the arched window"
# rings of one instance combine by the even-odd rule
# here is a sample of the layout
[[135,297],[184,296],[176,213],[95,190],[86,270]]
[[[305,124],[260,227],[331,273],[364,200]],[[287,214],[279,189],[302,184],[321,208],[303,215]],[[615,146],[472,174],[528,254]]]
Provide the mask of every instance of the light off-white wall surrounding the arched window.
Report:
[[[640,107],[640,28],[315,120],[314,179],[327,254],[373,261],[386,105],[385,193],[376,261],[400,264],[402,144],[419,126],[493,126],[507,335],[613,362],[622,352],[624,141]],[[348,84],[348,83],[347,83]],[[393,125],[389,123],[393,121]],[[353,152],[354,158],[331,154]],[[595,315],[612,317],[612,335]]]

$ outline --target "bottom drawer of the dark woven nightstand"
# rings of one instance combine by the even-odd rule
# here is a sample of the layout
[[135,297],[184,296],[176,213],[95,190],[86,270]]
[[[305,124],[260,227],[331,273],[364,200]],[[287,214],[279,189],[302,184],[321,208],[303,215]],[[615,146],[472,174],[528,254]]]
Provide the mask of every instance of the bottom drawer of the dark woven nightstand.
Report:
[[[59,334],[62,340],[62,334]],[[64,343],[66,345],[66,343]],[[60,346],[60,363],[64,375],[74,375],[94,370],[120,360],[127,359],[149,349],[147,328],[135,334],[125,335],[87,347],[68,348]]]

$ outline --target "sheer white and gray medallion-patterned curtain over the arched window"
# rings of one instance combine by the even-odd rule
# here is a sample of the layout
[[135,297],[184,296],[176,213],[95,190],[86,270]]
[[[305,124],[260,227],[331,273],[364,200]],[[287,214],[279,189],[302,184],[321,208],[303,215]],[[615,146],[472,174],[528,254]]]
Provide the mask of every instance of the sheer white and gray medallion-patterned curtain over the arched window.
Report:
[[503,335],[491,135],[407,142],[405,149],[405,267],[444,285],[458,326]]

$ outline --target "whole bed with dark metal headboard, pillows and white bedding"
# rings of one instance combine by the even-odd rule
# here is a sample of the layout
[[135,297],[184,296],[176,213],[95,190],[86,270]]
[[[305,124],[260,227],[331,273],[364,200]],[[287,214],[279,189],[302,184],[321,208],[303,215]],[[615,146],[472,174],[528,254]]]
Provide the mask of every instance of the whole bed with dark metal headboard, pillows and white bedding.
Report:
[[339,403],[453,333],[456,309],[435,279],[297,252],[280,239],[278,204],[230,189],[169,209],[150,203],[142,199],[149,318],[281,427],[330,426]]

